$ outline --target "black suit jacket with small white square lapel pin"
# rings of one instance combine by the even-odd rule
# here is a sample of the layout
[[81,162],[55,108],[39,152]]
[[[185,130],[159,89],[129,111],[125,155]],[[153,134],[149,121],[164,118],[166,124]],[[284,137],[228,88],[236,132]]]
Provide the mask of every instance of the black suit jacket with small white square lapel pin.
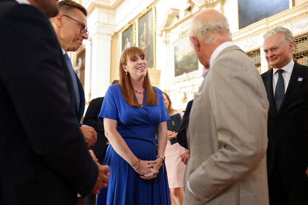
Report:
[[[268,177],[271,176],[276,154],[284,179],[307,184],[305,171],[308,166],[308,66],[295,62],[278,113],[274,102],[273,69],[263,73],[261,77],[270,102],[267,130]],[[302,81],[299,81],[299,78],[302,78]]]

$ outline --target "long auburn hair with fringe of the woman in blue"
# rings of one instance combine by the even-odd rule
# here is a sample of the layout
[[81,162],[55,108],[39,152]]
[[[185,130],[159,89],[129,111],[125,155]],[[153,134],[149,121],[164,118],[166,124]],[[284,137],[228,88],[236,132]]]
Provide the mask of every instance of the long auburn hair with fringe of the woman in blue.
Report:
[[[120,84],[123,97],[125,101],[130,106],[133,106],[133,107],[139,107],[140,104],[136,102],[136,100],[134,99],[135,91],[132,86],[131,78],[129,77],[129,74],[126,74],[126,72],[123,70],[122,65],[126,66],[128,59],[132,61],[134,57],[137,55],[140,56],[140,58],[145,58],[144,50],[136,46],[132,46],[132,47],[125,49],[120,58],[120,70],[119,70],[119,73],[120,73],[119,74],[120,75],[119,84]],[[149,105],[149,106],[158,105],[158,101],[157,101],[158,93],[155,87],[151,85],[148,72],[144,76],[143,86],[144,86],[144,89],[146,90],[146,95],[145,95],[146,105]]]

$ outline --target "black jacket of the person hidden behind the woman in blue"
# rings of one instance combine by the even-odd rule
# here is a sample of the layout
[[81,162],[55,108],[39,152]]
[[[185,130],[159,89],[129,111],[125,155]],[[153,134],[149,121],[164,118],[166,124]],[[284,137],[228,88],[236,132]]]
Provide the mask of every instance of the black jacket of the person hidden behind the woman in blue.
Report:
[[94,151],[95,156],[101,156],[104,153],[107,138],[105,136],[104,123],[99,121],[98,115],[102,108],[104,97],[95,98],[91,100],[86,114],[83,118],[85,125],[91,126],[97,132],[97,140],[94,146],[89,149]]

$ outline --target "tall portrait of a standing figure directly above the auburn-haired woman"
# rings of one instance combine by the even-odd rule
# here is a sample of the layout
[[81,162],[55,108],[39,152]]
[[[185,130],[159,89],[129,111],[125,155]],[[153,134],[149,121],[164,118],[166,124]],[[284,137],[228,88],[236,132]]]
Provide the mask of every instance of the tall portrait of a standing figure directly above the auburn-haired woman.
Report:
[[153,10],[138,19],[138,47],[146,54],[149,68],[154,68],[154,26]]

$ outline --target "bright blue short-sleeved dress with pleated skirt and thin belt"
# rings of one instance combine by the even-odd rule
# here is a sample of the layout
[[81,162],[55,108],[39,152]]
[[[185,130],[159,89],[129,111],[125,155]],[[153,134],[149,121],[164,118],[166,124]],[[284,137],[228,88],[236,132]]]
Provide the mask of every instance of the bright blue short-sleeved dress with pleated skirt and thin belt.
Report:
[[[104,97],[99,119],[117,120],[117,131],[122,137],[137,137],[157,143],[156,129],[161,122],[169,120],[164,105],[162,91],[156,88],[158,105],[132,107],[125,100],[118,84],[111,85]],[[135,96],[135,100],[136,96]],[[156,146],[153,143],[140,139],[124,138],[129,149],[137,158],[155,160]],[[102,205],[170,205],[168,179],[163,164],[156,178],[142,179],[139,174],[120,156],[111,144],[107,148],[104,165],[110,166],[108,186],[100,190],[96,204]]]

